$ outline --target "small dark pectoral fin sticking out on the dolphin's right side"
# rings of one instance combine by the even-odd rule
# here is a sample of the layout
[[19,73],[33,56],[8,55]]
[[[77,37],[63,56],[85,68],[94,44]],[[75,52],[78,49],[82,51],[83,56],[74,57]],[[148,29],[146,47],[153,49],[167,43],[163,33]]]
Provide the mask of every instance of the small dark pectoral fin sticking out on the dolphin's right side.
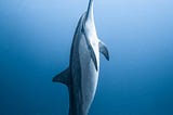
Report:
[[109,61],[109,52],[108,49],[106,48],[105,43],[99,41],[99,52],[104,54],[104,56]]

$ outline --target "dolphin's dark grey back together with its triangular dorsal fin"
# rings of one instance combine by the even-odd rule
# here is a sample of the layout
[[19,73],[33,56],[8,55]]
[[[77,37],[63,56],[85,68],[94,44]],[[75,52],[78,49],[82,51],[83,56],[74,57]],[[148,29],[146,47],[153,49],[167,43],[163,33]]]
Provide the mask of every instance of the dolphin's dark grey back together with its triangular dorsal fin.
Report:
[[82,111],[81,64],[79,58],[79,43],[83,37],[81,28],[84,15],[85,13],[80,17],[74,35],[69,67],[53,78],[54,82],[62,82],[68,87],[69,115],[85,115]]

